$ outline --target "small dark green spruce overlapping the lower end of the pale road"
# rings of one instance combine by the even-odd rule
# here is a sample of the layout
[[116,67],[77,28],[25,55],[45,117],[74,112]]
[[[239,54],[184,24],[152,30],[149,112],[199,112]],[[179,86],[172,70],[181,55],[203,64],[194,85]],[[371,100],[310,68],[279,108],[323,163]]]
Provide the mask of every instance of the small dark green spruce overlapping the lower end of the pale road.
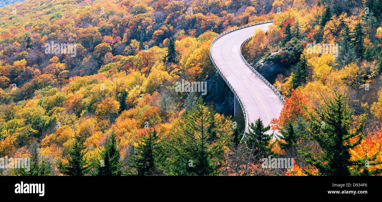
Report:
[[248,148],[251,149],[255,155],[258,155],[258,159],[273,155],[273,144],[269,145],[269,142],[274,134],[267,134],[267,131],[270,130],[270,125],[264,127],[260,118],[258,118],[255,123],[248,125],[249,133],[246,133],[244,138]]

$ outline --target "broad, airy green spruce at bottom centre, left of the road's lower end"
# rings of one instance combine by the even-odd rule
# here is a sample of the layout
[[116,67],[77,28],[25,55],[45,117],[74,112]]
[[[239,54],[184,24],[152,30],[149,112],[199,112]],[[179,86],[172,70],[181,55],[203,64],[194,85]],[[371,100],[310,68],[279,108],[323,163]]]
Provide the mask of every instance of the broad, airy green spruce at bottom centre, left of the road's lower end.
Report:
[[229,137],[222,133],[215,142],[209,141],[216,130],[209,130],[214,115],[212,107],[207,107],[201,98],[195,108],[185,112],[177,132],[171,134],[167,144],[171,148],[169,170],[173,175],[219,175],[219,168],[223,165],[223,146]]

